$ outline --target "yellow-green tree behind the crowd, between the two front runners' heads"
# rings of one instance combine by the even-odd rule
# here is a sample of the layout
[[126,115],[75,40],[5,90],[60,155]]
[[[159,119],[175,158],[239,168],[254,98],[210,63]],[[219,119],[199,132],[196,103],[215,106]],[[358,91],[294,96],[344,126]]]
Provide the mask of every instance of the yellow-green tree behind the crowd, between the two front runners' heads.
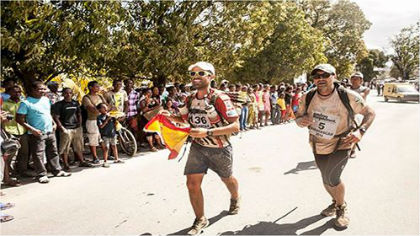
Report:
[[292,82],[293,78],[325,62],[323,36],[312,28],[294,3],[274,3],[264,14],[272,30],[266,35],[263,49],[248,56],[235,71],[237,80],[263,83]]

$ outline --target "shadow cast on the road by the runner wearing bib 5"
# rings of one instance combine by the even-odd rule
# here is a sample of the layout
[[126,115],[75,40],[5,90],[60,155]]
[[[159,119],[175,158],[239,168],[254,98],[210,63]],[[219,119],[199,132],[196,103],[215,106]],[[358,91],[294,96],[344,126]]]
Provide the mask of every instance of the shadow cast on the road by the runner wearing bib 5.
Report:
[[[277,224],[276,221],[259,222],[255,225],[247,225],[239,231],[223,232],[221,235],[297,235],[298,230],[303,229],[323,218],[324,217],[321,215],[315,215],[291,224]],[[333,225],[333,219],[331,219],[325,224],[315,229],[306,231],[301,235],[320,235],[327,229],[333,228]]]

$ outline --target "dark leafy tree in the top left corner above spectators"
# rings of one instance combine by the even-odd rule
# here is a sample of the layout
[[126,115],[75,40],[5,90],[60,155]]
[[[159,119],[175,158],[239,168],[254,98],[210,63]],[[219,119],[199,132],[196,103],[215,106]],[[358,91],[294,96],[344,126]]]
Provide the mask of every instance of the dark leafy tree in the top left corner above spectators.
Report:
[[119,2],[3,2],[2,77],[48,81],[61,73],[101,68],[117,28]]

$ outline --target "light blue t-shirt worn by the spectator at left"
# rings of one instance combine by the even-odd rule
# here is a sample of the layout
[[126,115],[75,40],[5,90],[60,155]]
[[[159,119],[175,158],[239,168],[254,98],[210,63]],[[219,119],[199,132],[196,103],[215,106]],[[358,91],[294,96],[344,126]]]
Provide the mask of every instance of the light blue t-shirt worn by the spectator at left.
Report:
[[17,114],[26,115],[26,122],[43,133],[53,131],[51,102],[47,97],[28,97],[20,103]]

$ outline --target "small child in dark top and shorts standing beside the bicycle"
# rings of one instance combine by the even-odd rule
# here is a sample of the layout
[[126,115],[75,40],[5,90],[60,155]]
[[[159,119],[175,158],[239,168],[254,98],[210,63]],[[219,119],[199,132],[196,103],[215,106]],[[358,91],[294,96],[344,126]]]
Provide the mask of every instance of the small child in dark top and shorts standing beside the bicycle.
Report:
[[124,161],[118,158],[118,149],[117,149],[117,120],[114,117],[108,115],[108,107],[105,103],[100,103],[96,107],[99,110],[100,114],[97,118],[99,132],[103,139],[102,151],[104,153],[104,164],[103,167],[109,167],[108,161],[108,147],[111,146],[112,153],[114,154],[115,160],[114,163],[124,163]]

